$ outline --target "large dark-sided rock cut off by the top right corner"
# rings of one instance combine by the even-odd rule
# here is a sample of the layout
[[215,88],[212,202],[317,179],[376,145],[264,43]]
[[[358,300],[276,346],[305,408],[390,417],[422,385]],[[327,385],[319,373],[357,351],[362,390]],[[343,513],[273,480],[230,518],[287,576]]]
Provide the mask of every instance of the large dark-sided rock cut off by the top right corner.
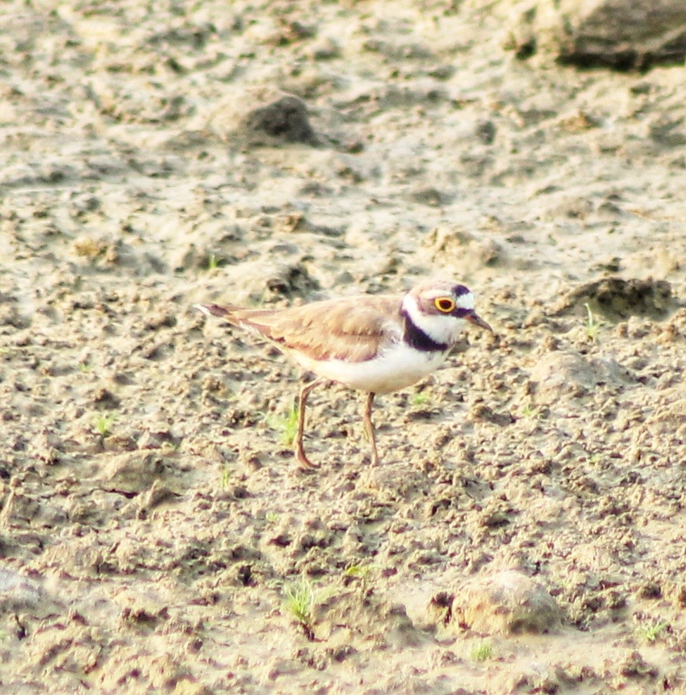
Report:
[[580,68],[647,70],[686,56],[682,0],[536,0],[526,6],[507,47],[520,58],[550,52]]

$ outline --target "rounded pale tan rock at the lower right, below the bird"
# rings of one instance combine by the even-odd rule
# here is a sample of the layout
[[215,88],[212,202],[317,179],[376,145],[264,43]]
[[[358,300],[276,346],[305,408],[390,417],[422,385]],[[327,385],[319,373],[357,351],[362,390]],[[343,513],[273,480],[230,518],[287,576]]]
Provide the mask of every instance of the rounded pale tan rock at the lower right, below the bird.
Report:
[[469,627],[485,635],[514,635],[551,632],[561,620],[559,606],[538,582],[505,570],[478,575],[458,587],[447,623],[455,630]]

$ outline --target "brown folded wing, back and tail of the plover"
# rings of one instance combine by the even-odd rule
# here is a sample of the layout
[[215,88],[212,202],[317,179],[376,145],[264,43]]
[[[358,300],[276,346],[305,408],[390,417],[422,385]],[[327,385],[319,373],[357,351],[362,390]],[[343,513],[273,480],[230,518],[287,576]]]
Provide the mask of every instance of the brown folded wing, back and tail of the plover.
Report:
[[261,333],[287,350],[300,350],[313,359],[364,362],[400,338],[402,297],[362,295],[312,302],[290,309],[204,307],[229,323]]

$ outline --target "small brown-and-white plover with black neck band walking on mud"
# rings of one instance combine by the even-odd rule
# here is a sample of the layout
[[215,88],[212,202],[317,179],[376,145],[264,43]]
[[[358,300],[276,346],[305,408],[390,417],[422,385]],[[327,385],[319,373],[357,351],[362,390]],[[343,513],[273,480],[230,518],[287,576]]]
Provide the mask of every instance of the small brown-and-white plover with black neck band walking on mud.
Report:
[[301,468],[319,468],[305,454],[305,407],[313,389],[326,382],[367,394],[362,417],[371,445],[371,465],[379,465],[371,420],[376,395],[407,388],[436,371],[466,324],[493,333],[474,310],[474,294],[449,279],[425,280],[407,293],[356,295],[296,307],[247,309],[198,304],[208,316],[266,338],[315,375],[298,397],[294,454]]

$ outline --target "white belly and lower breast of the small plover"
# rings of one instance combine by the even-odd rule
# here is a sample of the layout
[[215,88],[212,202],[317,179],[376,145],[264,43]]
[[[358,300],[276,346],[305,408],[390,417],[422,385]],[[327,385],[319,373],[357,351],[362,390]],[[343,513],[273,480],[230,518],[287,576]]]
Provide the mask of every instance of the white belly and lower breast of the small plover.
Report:
[[291,355],[308,371],[342,383],[348,388],[371,393],[391,393],[436,371],[445,362],[447,352],[421,352],[404,343],[397,343],[379,357],[365,362],[344,362],[342,359],[316,362],[303,355]]

